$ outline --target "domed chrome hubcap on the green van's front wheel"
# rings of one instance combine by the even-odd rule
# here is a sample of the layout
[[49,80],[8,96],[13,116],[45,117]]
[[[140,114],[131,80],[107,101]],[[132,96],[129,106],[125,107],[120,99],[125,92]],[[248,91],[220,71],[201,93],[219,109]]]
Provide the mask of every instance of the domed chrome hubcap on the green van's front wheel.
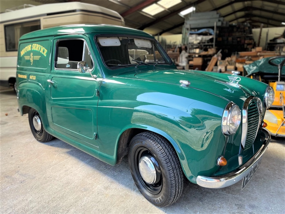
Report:
[[154,184],[156,181],[156,170],[150,158],[143,156],[139,161],[139,171],[146,183]]

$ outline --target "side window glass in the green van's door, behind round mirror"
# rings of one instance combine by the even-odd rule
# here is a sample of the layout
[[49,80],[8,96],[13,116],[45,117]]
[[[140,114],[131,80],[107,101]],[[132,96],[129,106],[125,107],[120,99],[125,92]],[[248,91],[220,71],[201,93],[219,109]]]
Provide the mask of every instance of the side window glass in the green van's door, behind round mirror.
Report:
[[94,66],[86,42],[81,39],[62,40],[57,45],[55,67],[58,69],[75,69],[80,61],[85,61],[91,70]]

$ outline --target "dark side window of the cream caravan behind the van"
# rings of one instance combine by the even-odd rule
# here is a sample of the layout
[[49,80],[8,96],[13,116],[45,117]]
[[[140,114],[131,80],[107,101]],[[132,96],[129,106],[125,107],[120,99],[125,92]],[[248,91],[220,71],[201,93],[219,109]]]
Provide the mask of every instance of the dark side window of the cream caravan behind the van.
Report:
[[5,26],[6,51],[17,51],[19,39],[22,35],[32,31],[40,30],[40,20],[16,23]]

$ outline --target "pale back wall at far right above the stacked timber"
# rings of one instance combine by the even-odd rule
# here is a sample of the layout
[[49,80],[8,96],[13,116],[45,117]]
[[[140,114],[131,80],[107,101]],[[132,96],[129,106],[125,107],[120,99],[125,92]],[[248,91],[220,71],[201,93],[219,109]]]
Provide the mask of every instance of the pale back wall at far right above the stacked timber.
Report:
[[[268,41],[270,41],[270,39],[273,39],[274,37],[278,37],[279,35],[282,35],[284,30],[285,30],[285,27],[265,27],[265,28],[262,28],[259,46],[262,47],[263,50],[265,49],[265,39],[266,39],[267,31],[268,31],[268,40],[267,40],[267,42],[268,42]],[[260,32],[260,28],[252,29],[253,39],[256,42],[256,45],[258,43],[259,32]]]

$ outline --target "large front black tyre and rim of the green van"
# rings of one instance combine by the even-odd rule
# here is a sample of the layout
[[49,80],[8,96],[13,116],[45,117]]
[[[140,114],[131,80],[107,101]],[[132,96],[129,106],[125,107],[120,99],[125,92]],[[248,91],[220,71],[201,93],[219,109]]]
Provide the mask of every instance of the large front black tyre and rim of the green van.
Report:
[[[155,173],[150,174],[156,175],[149,179],[144,175],[150,174],[144,174],[148,182],[141,175],[145,168],[140,171],[140,160],[145,157],[155,168]],[[184,185],[183,171],[174,148],[165,138],[152,132],[136,135],[131,140],[128,158],[135,184],[148,201],[158,207],[166,207],[180,197]]]

